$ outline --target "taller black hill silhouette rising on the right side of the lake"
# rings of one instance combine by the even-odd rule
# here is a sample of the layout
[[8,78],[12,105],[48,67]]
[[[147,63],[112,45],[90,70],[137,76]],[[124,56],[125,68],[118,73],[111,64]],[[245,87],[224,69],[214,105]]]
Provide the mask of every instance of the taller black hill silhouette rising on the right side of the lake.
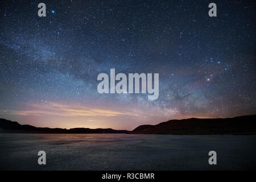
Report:
[[141,125],[129,134],[256,134],[256,115],[216,119],[173,119],[158,125]]

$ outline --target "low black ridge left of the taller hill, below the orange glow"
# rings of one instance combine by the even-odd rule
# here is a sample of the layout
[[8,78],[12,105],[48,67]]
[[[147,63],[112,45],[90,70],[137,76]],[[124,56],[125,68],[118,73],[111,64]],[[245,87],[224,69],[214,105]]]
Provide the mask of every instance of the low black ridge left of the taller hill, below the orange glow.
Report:
[[127,133],[127,130],[113,130],[113,129],[88,129],[88,128],[75,128],[75,129],[50,129],[48,127],[35,127],[31,125],[20,125],[18,122],[9,121],[0,118],[0,133],[58,133],[58,134],[104,134],[104,133]]

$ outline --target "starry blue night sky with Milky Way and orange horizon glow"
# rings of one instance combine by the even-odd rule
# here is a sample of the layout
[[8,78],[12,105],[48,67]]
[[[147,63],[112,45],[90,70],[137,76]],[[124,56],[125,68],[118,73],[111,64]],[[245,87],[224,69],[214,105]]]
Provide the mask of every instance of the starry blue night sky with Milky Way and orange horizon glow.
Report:
[[[46,17],[38,4],[46,4]],[[208,5],[217,5],[209,17]],[[254,1],[1,1],[0,118],[133,130],[255,114]],[[159,98],[100,94],[97,75],[159,73]]]

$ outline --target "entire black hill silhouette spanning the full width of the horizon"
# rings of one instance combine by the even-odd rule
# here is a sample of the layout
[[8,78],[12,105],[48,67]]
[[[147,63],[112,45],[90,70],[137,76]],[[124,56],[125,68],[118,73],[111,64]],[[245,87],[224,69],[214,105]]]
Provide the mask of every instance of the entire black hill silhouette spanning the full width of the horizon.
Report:
[[172,135],[208,135],[208,134],[256,134],[256,115],[245,115],[234,118],[216,119],[172,119],[158,125],[141,125],[133,131],[113,129],[51,129],[48,127],[35,127],[20,125],[18,122],[0,118],[0,133],[62,133],[62,134],[172,134]]

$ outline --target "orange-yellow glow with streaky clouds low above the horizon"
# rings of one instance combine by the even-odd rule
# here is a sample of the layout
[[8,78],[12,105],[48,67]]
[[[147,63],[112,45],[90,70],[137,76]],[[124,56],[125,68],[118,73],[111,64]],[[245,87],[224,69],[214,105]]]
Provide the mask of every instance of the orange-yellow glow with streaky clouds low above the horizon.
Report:
[[[24,109],[25,108],[25,109]],[[0,110],[11,120],[36,127],[89,127],[133,130],[139,125],[157,125],[171,119],[214,118],[214,116],[184,115],[176,108],[122,106],[105,109],[102,106],[85,106],[77,103],[48,102],[47,104],[26,104],[23,110]]]

